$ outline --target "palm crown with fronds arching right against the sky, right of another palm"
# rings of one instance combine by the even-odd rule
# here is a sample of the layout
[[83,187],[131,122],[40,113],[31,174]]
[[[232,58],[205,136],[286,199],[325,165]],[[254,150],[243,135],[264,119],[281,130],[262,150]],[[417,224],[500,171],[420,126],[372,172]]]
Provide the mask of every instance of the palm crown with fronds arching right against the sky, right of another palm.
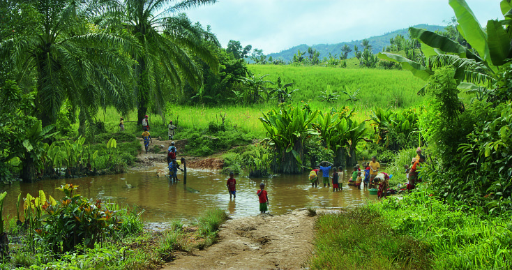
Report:
[[202,70],[193,55],[218,70],[218,59],[203,46],[202,33],[184,15],[170,16],[180,10],[215,3],[216,0],[125,0],[120,1],[123,27],[141,45],[134,54],[137,60],[137,119],[141,123],[148,107],[154,102],[163,105],[164,80],[181,89],[186,80],[195,89],[202,87]]

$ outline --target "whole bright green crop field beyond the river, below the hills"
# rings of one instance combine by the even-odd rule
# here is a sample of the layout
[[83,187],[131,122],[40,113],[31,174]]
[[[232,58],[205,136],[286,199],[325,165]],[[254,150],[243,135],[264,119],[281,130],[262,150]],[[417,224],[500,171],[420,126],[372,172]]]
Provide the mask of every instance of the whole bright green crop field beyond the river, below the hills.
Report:
[[[265,80],[276,82],[281,77],[283,83],[295,82],[292,89],[299,89],[294,93],[291,105],[302,106],[309,101],[312,110],[326,112],[335,108],[355,108],[355,119],[366,120],[370,117],[375,107],[400,109],[416,107],[423,103],[424,97],[418,96],[417,91],[425,82],[414,77],[405,70],[377,70],[377,69],[345,69],[322,66],[275,66],[275,65],[249,65],[249,69],[256,75],[265,75]],[[340,97],[333,103],[322,101],[317,96],[322,95],[329,85],[333,91],[338,91]],[[345,100],[347,96],[339,93],[340,89],[347,86],[350,92],[361,89],[357,101]],[[276,87],[269,85],[269,87]],[[207,107],[204,105],[187,106],[172,105],[169,114],[165,115],[165,121],[178,121],[182,128],[206,128],[208,123],[221,123],[220,115],[226,117],[226,123],[241,128],[248,133],[254,133],[256,137],[264,137],[264,128],[258,120],[262,112],[268,112],[277,106],[276,100],[267,103],[253,105],[222,105]],[[106,112],[100,112],[98,119],[105,121],[107,130],[118,130],[120,115],[108,108]],[[136,121],[137,113],[126,115],[125,121]],[[167,123],[158,114],[150,114],[152,126],[166,126]],[[135,123],[134,123],[135,125]],[[127,128],[130,123],[127,123]]]

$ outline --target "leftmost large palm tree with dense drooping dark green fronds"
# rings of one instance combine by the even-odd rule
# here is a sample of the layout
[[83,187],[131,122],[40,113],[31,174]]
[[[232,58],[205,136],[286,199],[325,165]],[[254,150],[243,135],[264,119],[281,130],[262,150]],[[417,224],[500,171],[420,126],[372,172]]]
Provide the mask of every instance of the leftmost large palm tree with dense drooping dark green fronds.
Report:
[[105,1],[27,4],[35,10],[37,23],[30,26],[32,31],[0,41],[0,61],[8,63],[17,82],[29,79],[35,85],[36,114],[43,128],[55,123],[64,100],[88,119],[107,104],[123,114],[131,110],[133,61],[125,52],[137,43],[128,34],[91,24],[107,10]]

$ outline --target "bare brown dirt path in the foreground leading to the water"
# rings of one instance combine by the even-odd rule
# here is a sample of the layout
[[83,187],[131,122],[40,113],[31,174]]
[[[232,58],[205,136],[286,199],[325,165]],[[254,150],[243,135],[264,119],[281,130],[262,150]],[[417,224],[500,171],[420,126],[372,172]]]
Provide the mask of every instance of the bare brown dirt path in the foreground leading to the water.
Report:
[[163,269],[301,269],[313,248],[314,223],[306,210],[227,220],[218,243],[182,253]]

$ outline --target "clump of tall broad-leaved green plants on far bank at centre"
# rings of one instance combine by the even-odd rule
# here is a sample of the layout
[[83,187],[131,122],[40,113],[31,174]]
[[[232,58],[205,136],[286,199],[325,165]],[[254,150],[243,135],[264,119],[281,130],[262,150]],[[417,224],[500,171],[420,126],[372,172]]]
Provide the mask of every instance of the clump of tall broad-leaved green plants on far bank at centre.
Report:
[[359,123],[352,119],[353,112],[322,113],[318,110],[308,112],[294,107],[282,107],[264,114],[260,120],[269,135],[271,146],[276,147],[281,157],[278,160],[279,166],[273,166],[273,169],[284,173],[302,172],[303,146],[308,139],[320,140],[323,148],[335,153],[336,164],[355,164],[356,146],[362,140],[368,140],[368,130],[366,121]]

